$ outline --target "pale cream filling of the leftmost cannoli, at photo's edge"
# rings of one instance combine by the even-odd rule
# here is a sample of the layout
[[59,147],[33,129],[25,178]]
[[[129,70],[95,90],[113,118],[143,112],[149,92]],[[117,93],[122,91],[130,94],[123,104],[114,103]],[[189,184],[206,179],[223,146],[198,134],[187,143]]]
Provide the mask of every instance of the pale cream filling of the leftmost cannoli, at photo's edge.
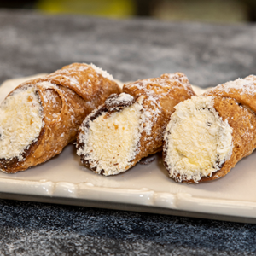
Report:
[[0,159],[18,157],[38,138],[42,107],[34,87],[15,90],[0,105]]

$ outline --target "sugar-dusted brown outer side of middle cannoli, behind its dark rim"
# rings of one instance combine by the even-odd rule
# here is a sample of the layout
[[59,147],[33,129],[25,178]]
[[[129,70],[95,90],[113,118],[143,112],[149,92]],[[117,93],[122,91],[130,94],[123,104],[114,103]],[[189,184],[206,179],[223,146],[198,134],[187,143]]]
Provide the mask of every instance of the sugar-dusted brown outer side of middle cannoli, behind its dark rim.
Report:
[[[174,107],[179,102],[195,96],[189,79],[183,73],[162,74],[160,78],[139,80],[125,84],[123,91],[135,99],[143,98],[143,108],[150,116],[147,123],[152,125],[149,132],[143,131],[139,148],[132,166],[149,154],[163,148],[163,132],[170,120]],[[145,124],[146,125],[146,124]]]

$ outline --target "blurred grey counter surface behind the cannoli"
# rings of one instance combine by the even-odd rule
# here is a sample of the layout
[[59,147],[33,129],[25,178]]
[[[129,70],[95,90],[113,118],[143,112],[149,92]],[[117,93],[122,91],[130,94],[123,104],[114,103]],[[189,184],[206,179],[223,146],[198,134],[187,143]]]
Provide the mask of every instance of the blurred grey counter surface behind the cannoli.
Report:
[[0,12],[0,82],[75,61],[123,81],[178,71],[215,86],[256,73],[256,26]]

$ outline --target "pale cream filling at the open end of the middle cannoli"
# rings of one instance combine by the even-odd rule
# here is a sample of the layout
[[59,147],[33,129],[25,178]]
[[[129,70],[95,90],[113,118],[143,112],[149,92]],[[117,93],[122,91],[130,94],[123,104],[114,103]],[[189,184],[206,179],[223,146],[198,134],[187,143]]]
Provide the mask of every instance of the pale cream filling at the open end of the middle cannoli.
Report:
[[85,143],[85,160],[96,172],[104,175],[125,172],[137,152],[141,137],[142,105],[134,103],[120,112],[102,113],[90,121],[88,139]]

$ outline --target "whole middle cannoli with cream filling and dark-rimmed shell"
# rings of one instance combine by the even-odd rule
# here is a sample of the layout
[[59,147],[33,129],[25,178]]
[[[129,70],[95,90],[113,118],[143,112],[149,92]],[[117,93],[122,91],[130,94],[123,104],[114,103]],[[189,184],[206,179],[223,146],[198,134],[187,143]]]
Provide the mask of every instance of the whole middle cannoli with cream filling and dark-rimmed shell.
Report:
[[162,150],[163,131],[178,102],[195,96],[183,73],[125,84],[84,120],[77,153],[82,163],[105,176],[125,172]]

